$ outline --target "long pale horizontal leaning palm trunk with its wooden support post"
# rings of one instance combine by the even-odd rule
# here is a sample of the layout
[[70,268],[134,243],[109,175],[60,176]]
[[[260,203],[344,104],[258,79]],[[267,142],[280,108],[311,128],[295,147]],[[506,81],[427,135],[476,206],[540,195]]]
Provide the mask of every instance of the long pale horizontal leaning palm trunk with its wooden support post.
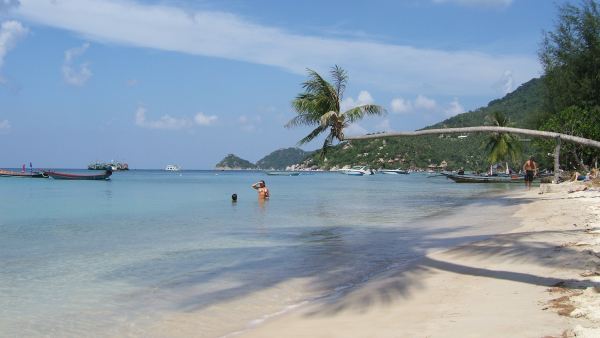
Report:
[[479,127],[463,127],[463,128],[443,128],[443,129],[425,129],[406,132],[392,132],[374,135],[353,136],[346,138],[347,140],[366,140],[374,138],[386,137],[402,137],[402,136],[420,136],[420,135],[439,135],[439,134],[458,134],[458,133],[511,133],[519,135],[528,135],[541,138],[551,138],[557,141],[554,150],[554,182],[558,183],[559,156],[561,141],[568,141],[581,144],[588,147],[600,148],[600,142],[590,140],[583,137],[555,133],[551,131],[540,131],[532,129],[511,128],[511,127],[494,127],[494,126],[479,126]]

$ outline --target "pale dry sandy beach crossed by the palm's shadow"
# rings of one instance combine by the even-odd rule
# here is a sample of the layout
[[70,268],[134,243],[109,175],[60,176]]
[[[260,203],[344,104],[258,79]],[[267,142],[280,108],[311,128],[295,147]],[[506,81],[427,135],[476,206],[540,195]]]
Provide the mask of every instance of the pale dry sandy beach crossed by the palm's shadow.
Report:
[[538,191],[502,194],[519,203],[511,230],[429,252],[227,336],[596,336],[600,208],[587,209],[600,192]]

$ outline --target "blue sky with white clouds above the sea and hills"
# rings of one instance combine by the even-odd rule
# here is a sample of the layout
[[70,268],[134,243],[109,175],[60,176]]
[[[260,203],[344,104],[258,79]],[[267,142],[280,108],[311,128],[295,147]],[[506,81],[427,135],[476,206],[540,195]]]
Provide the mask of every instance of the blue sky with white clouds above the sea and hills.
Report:
[[333,65],[349,74],[344,109],[387,110],[347,135],[422,128],[539,77],[557,12],[548,0],[0,0],[0,167],[255,162],[308,134],[284,127],[290,103],[307,68],[328,78]]

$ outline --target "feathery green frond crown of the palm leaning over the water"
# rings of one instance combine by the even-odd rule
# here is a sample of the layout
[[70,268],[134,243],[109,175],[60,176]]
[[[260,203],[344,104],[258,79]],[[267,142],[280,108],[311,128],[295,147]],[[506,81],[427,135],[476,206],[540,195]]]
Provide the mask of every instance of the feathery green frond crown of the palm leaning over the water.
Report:
[[296,126],[316,126],[308,135],[302,138],[298,145],[312,141],[324,132],[329,132],[325,137],[321,156],[325,155],[327,149],[334,140],[344,140],[344,128],[359,121],[366,115],[382,115],[385,109],[374,104],[365,104],[341,112],[340,103],[348,82],[348,74],[339,66],[331,69],[333,84],[327,82],[317,72],[307,69],[308,80],[302,84],[304,92],[298,94],[292,101],[292,107],[298,114],[291,119],[286,128]]

